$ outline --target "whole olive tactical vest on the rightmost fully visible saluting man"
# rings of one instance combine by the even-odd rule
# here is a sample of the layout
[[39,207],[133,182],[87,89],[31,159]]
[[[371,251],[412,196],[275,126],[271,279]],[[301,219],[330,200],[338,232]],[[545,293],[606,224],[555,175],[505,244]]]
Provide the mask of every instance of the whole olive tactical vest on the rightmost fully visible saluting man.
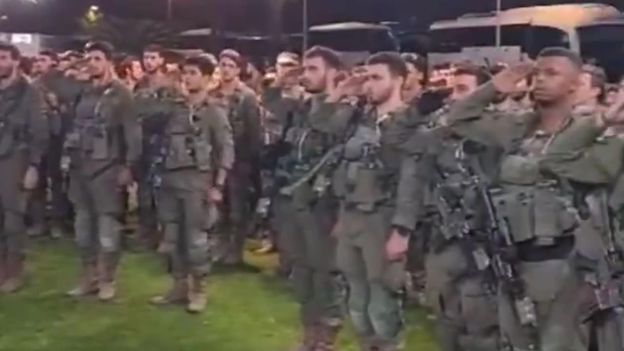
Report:
[[540,173],[538,157],[506,156],[501,169],[500,187],[490,194],[515,242],[553,245],[556,239],[573,235],[578,226],[573,194],[560,180]]

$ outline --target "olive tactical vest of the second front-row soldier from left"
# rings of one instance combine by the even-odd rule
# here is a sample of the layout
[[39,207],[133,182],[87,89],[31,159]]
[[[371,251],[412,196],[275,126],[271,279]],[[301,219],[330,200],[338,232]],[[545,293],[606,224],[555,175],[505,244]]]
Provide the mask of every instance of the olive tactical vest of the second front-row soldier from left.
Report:
[[110,102],[114,87],[109,87],[95,103],[94,111],[88,116],[77,116],[74,127],[67,134],[64,148],[79,151],[94,161],[108,160],[112,156],[113,128],[104,113],[104,103]]

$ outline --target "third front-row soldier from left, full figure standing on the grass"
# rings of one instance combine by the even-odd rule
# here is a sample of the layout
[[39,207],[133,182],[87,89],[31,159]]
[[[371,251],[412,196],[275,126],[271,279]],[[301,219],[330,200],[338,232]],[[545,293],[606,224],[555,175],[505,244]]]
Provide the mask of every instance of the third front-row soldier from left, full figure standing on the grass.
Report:
[[206,305],[208,206],[221,202],[234,162],[232,128],[221,109],[208,102],[205,88],[215,67],[202,57],[187,59],[182,77],[188,96],[173,102],[165,127],[158,212],[165,252],[172,262],[173,287],[154,304]]

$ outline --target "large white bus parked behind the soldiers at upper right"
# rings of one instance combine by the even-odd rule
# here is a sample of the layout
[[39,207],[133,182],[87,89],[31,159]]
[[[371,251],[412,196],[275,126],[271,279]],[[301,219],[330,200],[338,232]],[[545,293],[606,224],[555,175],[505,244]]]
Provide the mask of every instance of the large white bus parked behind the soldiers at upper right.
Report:
[[[500,48],[495,47],[498,25]],[[514,61],[534,58],[544,47],[563,46],[603,67],[611,81],[624,75],[624,15],[605,4],[518,7],[501,11],[500,16],[466,14],[434,22],[429,36],[431,64],[476,61],[479,52],[479,60],[487,58],[487,52],[498,52],[499,57]]]

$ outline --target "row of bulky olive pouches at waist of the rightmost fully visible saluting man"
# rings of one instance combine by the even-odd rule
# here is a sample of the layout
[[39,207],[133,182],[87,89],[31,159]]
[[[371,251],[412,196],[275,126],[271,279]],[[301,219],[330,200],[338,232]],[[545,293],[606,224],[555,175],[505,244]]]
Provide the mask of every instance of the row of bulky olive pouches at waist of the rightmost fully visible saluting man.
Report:
[[514,242],[534,240],[536,245],[554,245],[560,237],[573,235],[578,225],[572,202],[555,182],[492,189],[490,195],[501,220],[509,223]]

